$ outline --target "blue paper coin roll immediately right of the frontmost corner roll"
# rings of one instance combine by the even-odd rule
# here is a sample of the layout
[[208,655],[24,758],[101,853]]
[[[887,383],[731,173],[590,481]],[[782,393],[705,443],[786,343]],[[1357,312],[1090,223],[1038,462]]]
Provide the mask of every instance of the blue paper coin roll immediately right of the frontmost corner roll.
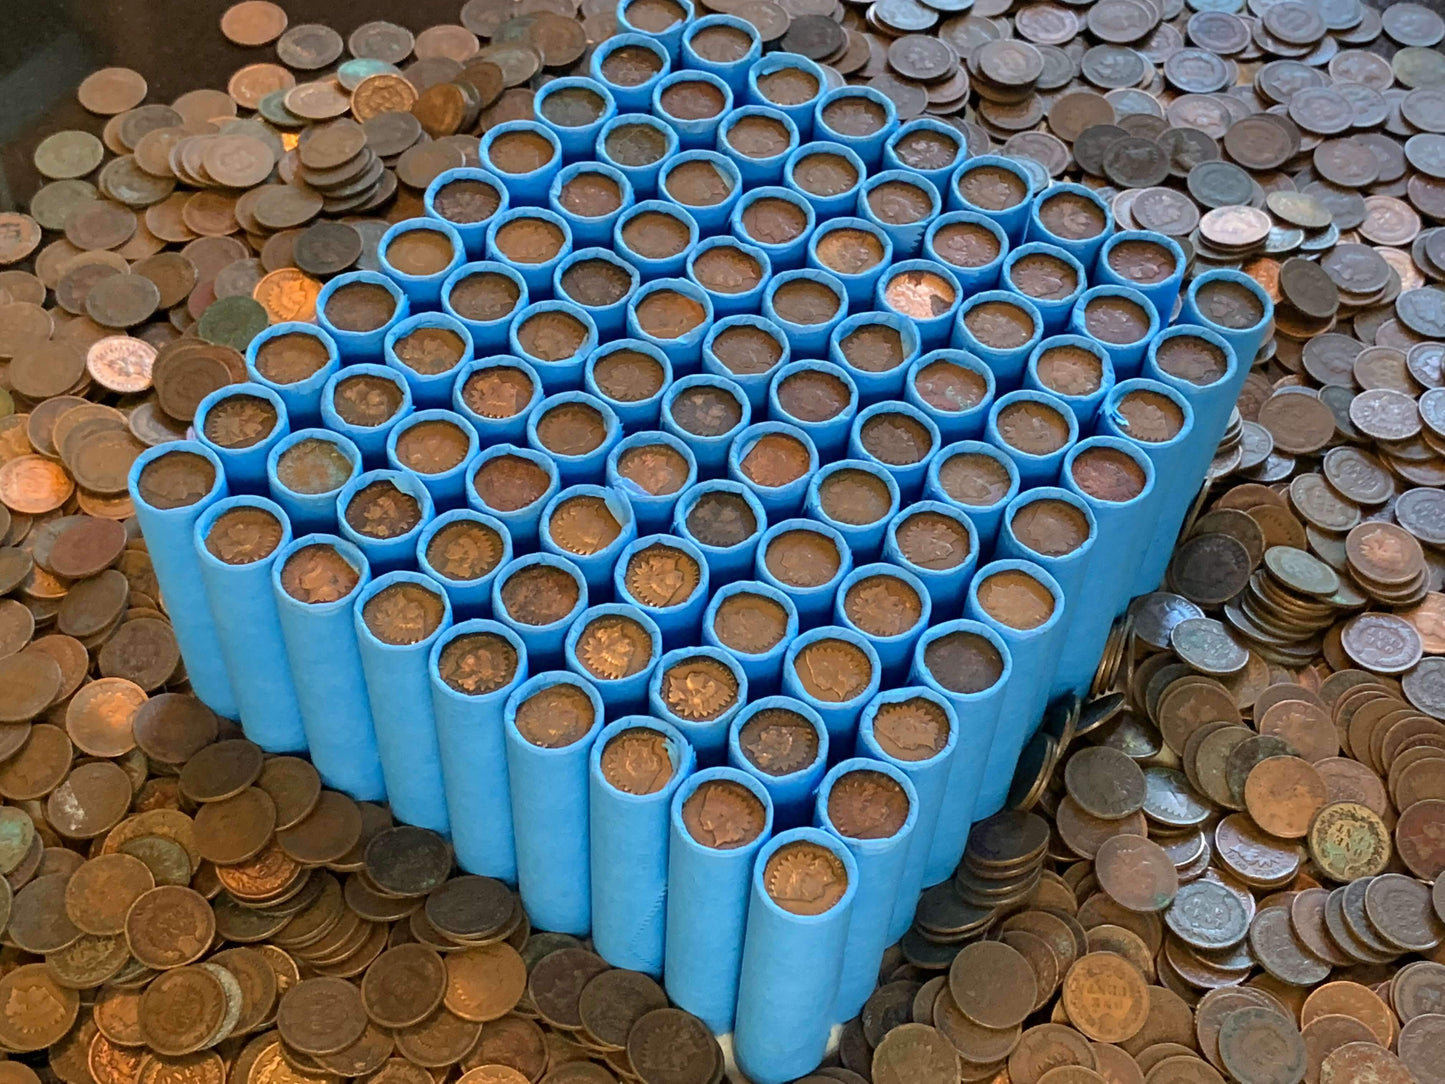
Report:
[[[902,788],[907,798],[907,817],[892,835],[881,838],[847,835],[829,817],[828,801],[832,788],[854,772],[879,773]],[[879,984],[883,950],[896,941],[890,926],[909,851],[918,833],[918,791],[913,789],[913,780],[887,760],[850,757],[834,765],[818,785],[814,822],[842,840],[858,866],[858,895],[853,899],[853,921],[848,924],[848,942],[842,950],[838,996],[832,1003],[835,1020],[851,1020]]]

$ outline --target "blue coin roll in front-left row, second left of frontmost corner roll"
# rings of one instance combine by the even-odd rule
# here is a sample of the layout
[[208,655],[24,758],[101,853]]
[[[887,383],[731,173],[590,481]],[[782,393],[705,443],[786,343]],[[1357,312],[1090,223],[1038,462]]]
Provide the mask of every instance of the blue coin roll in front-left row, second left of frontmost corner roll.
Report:
[[[607,779],[607,747],[630,730],[662,734],[672,776],[650,793],[631,793]],[[662,974],[668,908],[668,835],[672,796],[692,775],[692,746],[673,727],[647,715],[610,723],[588,757],[591,815],[592,945],[614,967]]]

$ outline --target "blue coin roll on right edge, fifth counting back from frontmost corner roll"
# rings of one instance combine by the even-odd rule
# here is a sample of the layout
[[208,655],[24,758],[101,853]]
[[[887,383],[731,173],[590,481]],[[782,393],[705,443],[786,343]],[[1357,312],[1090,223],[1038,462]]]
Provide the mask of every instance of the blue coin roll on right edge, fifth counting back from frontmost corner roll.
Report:
[[[1027,627],[1006,623],[990,613],[981,601],[980,595],[988,595],[1000,585],[993,582],[998,577],[1003,577],[1000,582],[1006,587],[1029,591],[1035,606],[1020,619]],[[1046,613],[1043,593],[1049,595]],[[1049,695],[1053,668],[1058,663],[1058,632],[1064,627],[1065,611],[1064,590],[1052,575],[1032,561],[993,561],[980,568],[968,585],[964,616],[998,633],[1009,645],[1009,659],[1013,662],[1013,672],[1003,692],[1003,702],[998,705],[998,726],[988,747],[984,778],[974,801],[975,821],[998,812],[1009,796],[1019,753],[1038,728]]]

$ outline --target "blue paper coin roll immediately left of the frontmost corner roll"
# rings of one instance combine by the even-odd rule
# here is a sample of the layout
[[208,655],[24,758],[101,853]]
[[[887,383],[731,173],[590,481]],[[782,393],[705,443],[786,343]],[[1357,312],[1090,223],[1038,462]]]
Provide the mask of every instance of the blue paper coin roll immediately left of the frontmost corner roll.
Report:
[[[757,799],[762,827],[751,840],[717,834],[715,843],[704,843],[688,828],[683,818],[688,799],[714,780],[744,788]],[[707,818],[707,809],[698,815]],[[773,801],[747,772],[705,767],[688,776],[672,796],[670,825],[663,983],[679,1007],[715,1035],[727,1035],[737,1007],[753,860],[773,834]],[[701,831],[707,833],[707,825],[704,820]]]

